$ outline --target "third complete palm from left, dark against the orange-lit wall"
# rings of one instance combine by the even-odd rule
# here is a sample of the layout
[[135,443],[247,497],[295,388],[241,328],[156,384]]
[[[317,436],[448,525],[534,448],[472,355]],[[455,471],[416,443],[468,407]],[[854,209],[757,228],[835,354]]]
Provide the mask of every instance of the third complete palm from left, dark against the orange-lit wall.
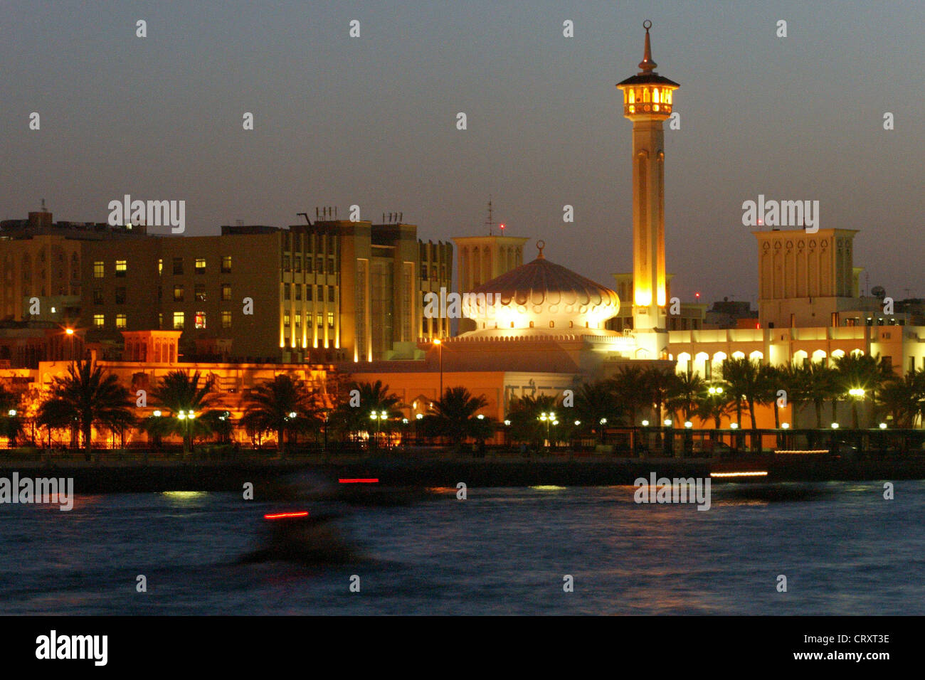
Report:
[[241,425],[252,430],[277,433],[277,450],[286,453],[286,434],[316,420],[314,396],[298,378],[279,375],[244,395],[246,407]]

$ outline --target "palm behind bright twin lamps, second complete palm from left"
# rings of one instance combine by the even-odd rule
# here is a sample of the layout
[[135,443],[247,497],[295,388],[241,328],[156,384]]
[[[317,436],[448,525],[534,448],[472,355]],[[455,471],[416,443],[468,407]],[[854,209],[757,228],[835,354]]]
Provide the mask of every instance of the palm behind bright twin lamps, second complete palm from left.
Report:
[[161,378],[153,397],[174,417],[148,418],[144,423],[145,429],[182,435],[183,453],[189,453],[196,436],[212,432],[210,422],[213,416],[210,411],[218,403],[212,389],[212,380],[203,379],[199,371],[170,371]]

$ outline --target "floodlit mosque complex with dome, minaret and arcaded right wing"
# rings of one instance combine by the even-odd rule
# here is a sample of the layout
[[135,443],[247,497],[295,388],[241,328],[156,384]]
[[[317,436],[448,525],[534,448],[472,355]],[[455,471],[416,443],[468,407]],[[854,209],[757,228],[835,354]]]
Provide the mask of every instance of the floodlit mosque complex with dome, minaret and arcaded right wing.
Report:
[[[430,340],[422,361],[352,365],[353,379],[381,379],[409,405],[412,418],[442,389],[464,386],[484,395],[487,415],[502,421],[512,399],[560,395],[628,363],[693,370],[707,380],[721,377],[730,357],[783,365],[863,352],[889,357],[897,374],[925,367],[925,328],[908,326],[909,318],[892,310],[884,314],[881,299],[859,294],[855,229],[753,232],[757,328],[704,329],[686,319],[672,324],[662,125],[672,116],[679,84],[655,70],[650,27],[647,21],[639,72],[617,84],[623,116],[633,123],[633,273],[614,275],[623,301],[617,291],[551,262],[542,241],[535,260],[513,266],[522,261],[526,239],[458,238],[460,335]],[[788,406],[783,420],[794,417]],[[758,420],[773,427],[771,409],[762,409]]]

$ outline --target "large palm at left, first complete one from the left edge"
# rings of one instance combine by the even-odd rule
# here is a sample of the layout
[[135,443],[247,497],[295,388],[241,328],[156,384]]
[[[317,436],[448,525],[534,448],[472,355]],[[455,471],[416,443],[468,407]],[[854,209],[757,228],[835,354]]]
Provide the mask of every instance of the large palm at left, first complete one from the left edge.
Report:
[[87,460],[93,448],[93,425],[109,429],[128,427],[135,421],[129,390],[112,373],[86,359],[68,366],[66,377],[56,377],[51,395],[39,408],[38,422],[52,427],[80,429]]

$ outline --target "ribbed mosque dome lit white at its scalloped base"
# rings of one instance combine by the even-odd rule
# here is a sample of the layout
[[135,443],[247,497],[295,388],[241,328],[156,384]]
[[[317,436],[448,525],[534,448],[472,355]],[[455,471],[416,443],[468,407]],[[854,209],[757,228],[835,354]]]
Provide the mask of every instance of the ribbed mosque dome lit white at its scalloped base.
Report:
[[[543,256],[475,288],[462,302],[462,314],[478,328],[604,328],[620,311],[611,289]],[[485,302],[481,296],[485,296]]]

